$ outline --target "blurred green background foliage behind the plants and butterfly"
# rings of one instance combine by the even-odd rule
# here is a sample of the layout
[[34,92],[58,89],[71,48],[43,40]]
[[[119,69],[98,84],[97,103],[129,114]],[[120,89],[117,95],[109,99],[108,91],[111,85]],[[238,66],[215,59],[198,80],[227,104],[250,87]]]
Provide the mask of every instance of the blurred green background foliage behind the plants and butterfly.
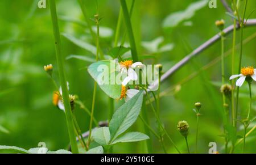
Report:
[[[74,0],[59,0],[57,12],[61,18],[72,18],[84,22],[79,3]],[[193,0],[136,0],[132,15],[133,30],[140,56],[154,55],[155,59],[145,60],[144,63],[161,63],[166,71],[176,62],[192,52],[197,46],[203,44],[213,35],[218,33],[214,22],[225,19],[226,26],[232,24],[232,18],[225,14],[225,8],[217,0],[217,8],[209,9],[207,5],[201,6],[195,12],[187,12],[184,18],[174,15],[176,20],[167,20],[170,14],[175,12],[184,13],[185,9]],[[230,4],[230,1],[228,1]],[[37,147],[38,142],[46,142],[50,150],[65,149],[68,146],[68,132],[63,111],[52,104],[54,85],[43,70],[43,66],[52,64],[54,67],[53,77],[59,82],[55,58],[55,46],[52,33],[51,16],[47,3],[46,9],[37,7],[38,0],[1,0],[0,1],[0,145],[19,146],[25,149]],[[93,19],[96,14],[94,1],[85,0],[86,11],[89,18]],[[131,0],[127,0],[130,6]],[[118,20],[120,4],[115,0],[98,0],[100,26],[106,27],[107,32],[100,39],[101,48],[104,53],[113,47],[114,33]],[[256,7],[256,1],[249,0],[246,16]],[[195,14],[195,15],[194,15]],[[180,17],[180,18],[179,18]],[[256,12],[250,15],[256,18]],[[180,20],[179,20],[180,19]],[[171,27],[165,28],[166,24]],[[93,22],[92,22],[93,24]],[[77,23],[60,19],[60,32],[76,36],[78,39],[93,44],[88,29]],[[123,24],[122,29],[125,29]],[[121,31],[121,36],[122,36]],[[244,45],[243,66],[256,66],[255,61],[255,32],[256,27],[245,29],[244,39],[251,40]],[[160,46],[155,43],[156,48],[167,45],[165,51],[150,50],[148,41],[163,37]],[[126,39],[127,40],[127,39]],[[160,39],[161,40],[161,39]],[[79,54],[94,58],[93,54],[79,46],[71,43],[61,36],[63,44],[63,55]],[[146,42],[145,42],[146,41]],[[237,44],[240,41],[240,31],[237,33]],[[170,46],[170,44],[172,44]],[[176,125],[180,120],[187,120],[190,125],[188,142],[191,150],[195,149],[196,115],[192,111],[195,102],[200,101],[202,116],[200,117],[199,151],[208,153],[209,142],[216,142],[217,149],[223,153],[224,138],[222,129],[222,96],[220,93],[221,65],[203,66],[220,57],[220,42],[205,50],[187,65],[177,71],[172,77],[162,84],[162,91],[166,95],[160,101],[160,117],[167,131],[174,138],[181,151],[186,151],[184,138],[177,132]],[[232,48],[232,35],[226,36],[225,51]],[[236,53],[236,65],[238,63],[238,51]],[[230,55],[230,52],[228,53]],[[231,75],[231,55],[225,58],[226,81]],[[65,71],[70,84],[71,94],[79,96],[86,107],[90,109],[93,93],[93,79],[86,71],[90,62],[77,59],[65,60]],[[237,68],[237,67],[236,67]],[[195,72],[195,77],[191,77]],[[183,84],[176,86],[184,79]],[[170,90],[174,88],[174,90]],[[249,94],[247,86],[241,88],[239,115],[245,117],[249,107]],[[253,83],[253,111],[255,116],[255,94],[256,86]],[[115,101],[118,108],[122,101]],[[75,114],[83,132],[89,128],[89,116],[76,108]],[[156,128],[154,115],[147,107],[151,126]],[[95,116],[98,121],[108,119],[108,96],[98,88]],[[239,124],[241,125],[241,124]],[[251,124],[254,126],[255,123]],[[238,126],[238,129],[240,127]],[[141,120],[130,128],[133,131],[143,130]],[[242,136],[242,130],[238,132]],[[159,141],[152,136],[155,153],[163,153]],[[169,141],[165,144],[169,153],[175,153]],[[114,147],[114,153],[144,153],[145,142],[122,143]],[[248,153],[256,152],[256,132],[250,134],[246,139],[246,150]],[[236,151],[241,151],[239,145]]]

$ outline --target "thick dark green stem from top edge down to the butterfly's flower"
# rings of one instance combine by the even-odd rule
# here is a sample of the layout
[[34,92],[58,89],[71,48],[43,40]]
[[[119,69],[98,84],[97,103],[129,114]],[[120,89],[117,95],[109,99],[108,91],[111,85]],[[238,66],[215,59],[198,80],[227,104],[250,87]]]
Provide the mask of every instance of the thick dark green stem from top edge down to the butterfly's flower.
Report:
[[120,0],[120,2],[121,2],[122,10],[123,10],[123,18],[125,19],[127,34],[128,34],[129,41],[130,41],[131,56],[133,57],[133,61],[137,62],[137,61],[139,61],[139,58],[138,58],[137,48],[136,48],[134,35],[133,35],[133,28],[131,27],[130,15],[129,15],[125,0]]

